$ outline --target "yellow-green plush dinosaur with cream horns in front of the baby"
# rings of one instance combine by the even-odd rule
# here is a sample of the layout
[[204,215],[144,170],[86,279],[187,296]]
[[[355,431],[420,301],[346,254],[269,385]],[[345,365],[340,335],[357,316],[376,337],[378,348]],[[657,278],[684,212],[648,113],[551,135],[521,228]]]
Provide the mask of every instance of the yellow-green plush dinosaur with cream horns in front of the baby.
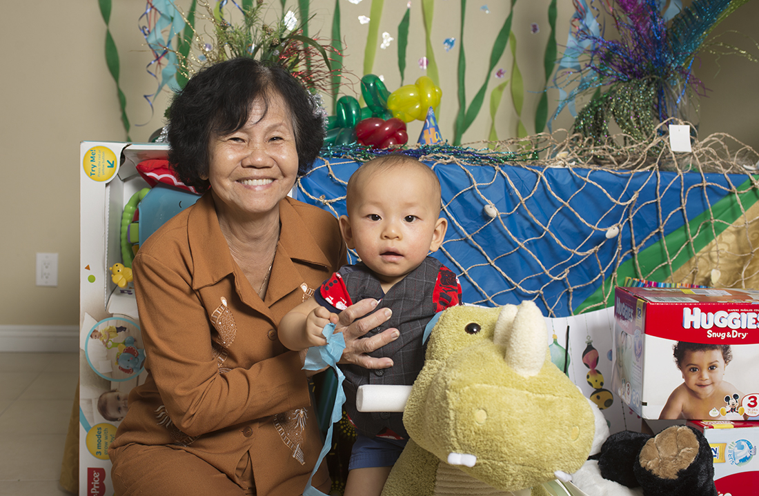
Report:
[[405,405],[410,440],[383,496],[545,496],[591,451],[594,413],[551,363],[532,302],[440,314]]

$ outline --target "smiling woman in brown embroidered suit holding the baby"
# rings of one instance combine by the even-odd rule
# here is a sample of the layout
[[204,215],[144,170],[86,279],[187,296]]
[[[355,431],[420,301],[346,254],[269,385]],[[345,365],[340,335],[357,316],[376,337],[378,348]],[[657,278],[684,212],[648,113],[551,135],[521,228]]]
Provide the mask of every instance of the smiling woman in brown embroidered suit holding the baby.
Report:
[[[237,58],[176,96],[168,140],[182,180],[205,193],[134,258],[148,376],[109,448],[115,493],[301,494],[322,441],[304,354],[277,325],[345,263],[338,221],[287,196],[322,120],[287,71]],[[358,339],[389,317],[364,317],[374,306],[338,326],[343,361],[379,369],[392,363],[366,353],[398,334]],[[328,490],[324,464],[312,485]]]

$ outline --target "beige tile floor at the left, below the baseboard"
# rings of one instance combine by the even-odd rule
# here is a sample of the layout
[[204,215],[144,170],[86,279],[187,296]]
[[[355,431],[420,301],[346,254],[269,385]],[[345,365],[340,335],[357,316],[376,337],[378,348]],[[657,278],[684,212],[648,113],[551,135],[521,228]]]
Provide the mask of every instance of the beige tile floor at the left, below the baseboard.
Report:
[[78,353],[0,353],[0,496],[57,496]]

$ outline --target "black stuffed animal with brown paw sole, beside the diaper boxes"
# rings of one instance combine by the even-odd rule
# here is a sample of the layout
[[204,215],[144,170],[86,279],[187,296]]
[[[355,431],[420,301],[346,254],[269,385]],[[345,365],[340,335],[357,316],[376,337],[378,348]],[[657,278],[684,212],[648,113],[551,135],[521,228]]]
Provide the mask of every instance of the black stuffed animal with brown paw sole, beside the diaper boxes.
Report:
[[622,431],[603,443],[597,460],[603,479],[644,496],[717,496],[709,443],[687,425],[672,425],[658,435]]

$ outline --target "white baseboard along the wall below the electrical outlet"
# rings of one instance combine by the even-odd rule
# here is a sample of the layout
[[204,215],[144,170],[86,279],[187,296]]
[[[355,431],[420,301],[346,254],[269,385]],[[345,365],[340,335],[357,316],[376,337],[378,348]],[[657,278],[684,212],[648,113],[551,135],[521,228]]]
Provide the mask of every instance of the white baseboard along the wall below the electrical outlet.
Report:
[[77,325],[0,325],[0,352],[77,353]]

